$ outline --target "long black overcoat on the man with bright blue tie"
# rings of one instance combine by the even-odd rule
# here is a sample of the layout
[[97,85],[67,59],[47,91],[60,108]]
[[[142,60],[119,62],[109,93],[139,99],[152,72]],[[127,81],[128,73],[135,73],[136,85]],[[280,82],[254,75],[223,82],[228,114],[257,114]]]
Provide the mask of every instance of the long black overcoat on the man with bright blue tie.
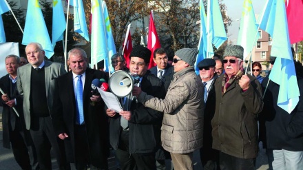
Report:
[[[94,78],[105,78],[105,73],[99,70],[87,68],[85,72],[85,84],[83,89],[83,113],[87,140],[90,149],[90,163],[94,167],[106,168],[108,153],[108,123],[104,112],[103,101],[90,104],[92,96],[92,81]],[[74,162],[74,126],[76,123],[76,100],[74,95],[72,72],[56,78],[54,92],[54,105],[52,120],[56,136],[67,133],[69,136],[64,140],[67,162]]]

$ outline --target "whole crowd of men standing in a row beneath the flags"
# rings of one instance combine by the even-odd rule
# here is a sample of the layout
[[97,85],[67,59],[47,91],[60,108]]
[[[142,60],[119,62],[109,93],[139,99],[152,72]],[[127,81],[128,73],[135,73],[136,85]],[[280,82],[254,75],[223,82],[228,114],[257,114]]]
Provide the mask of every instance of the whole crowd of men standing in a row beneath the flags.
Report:
[[30,43],[27,60],[6,56],[0,78],[3,147],[21,169],[52,169],[51,149],[59,169],[108,169],[112,147],[123,170],[194,169],[199,149],[203,169],[240,170],[255,169],[262,141],[270,169],[302,169],[303,80],[297,76],[300,100],[289,114],[277,105],[279,85],[244,73],[243,51],[227,46],[223,59],[197,63],[199,75],[196,48],[177,50],[172,65],[158,48],[150,70],[146,47],[134,47],[129,62],[114,54],[115,71],[139,77],[114,111],[91,87],[108,74],[88,67],[83,49],[68,52],[66,72]]

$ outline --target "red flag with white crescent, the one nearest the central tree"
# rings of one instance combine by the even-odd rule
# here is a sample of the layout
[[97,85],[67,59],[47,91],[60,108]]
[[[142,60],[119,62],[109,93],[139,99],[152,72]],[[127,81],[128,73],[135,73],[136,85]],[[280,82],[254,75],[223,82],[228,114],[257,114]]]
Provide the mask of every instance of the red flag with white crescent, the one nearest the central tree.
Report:
[[149,50],[151,50],[151,56],[150,56],[150,60],[149,60],[149,66],[148,69],[150,69],[151,67],[154,67],[156,65],[156,63],[154,63],[154,51],[161,47],[160,45],[160,41],[158,39],[158,34],[157,34],[157,30],[155,27],[155,23],[154,23],[154,14],[153,11],[151,10],[150,12],[150,17],[149,17],[149,29],[148,29],[148,41],[147,41],[147,48]]

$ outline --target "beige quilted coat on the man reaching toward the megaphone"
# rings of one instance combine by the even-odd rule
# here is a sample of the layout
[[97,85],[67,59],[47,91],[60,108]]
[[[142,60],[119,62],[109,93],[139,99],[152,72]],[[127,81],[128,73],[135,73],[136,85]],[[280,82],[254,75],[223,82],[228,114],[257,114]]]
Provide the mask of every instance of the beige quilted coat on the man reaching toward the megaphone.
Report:
[[193,67],[174,74],[165,99],[141,92],[138,100],[164,113],[161,127],[163,148],[171,153],[190,153],[202,147],[204,87]]

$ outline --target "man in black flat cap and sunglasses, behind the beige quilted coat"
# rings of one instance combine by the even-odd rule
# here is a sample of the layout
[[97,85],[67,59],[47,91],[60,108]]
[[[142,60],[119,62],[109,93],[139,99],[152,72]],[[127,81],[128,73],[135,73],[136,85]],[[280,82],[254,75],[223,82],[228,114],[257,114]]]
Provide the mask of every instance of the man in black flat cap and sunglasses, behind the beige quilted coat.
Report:
[[203,129],[203,147],[200,149],[200,158],[203,169],[216,170],[219,167],[219,152],[211,148],[213,138],[211,137],[211,119],[216,109],[215,81],[218,78],[216,74],[216,61],[213,59],[204,59],[197,65],[200,78],[204,85],[204,129]]

